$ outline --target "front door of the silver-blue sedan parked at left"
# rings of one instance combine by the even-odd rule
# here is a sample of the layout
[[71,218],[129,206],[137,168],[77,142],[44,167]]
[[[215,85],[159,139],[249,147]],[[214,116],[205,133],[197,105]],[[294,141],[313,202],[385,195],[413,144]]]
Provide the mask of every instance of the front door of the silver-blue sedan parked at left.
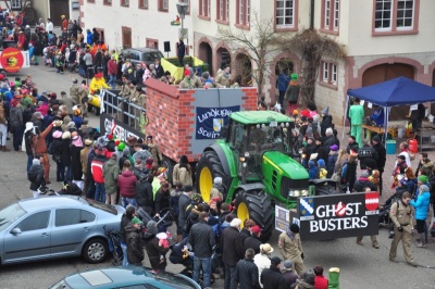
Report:
[[4,235],[4,263],[50,256],[51,210],[27,215]]

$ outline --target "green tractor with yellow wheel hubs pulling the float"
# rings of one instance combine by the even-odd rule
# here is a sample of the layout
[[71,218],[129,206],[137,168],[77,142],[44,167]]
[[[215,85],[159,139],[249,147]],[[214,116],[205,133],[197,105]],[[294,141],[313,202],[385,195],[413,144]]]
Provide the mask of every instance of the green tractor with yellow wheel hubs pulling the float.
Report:
[[262,241],[274,228],[274,204],[296,209],[308,196],[307,169],[293,159],[291,118],[273,111],[243,111],[229,115],[221,138],[207,147],[197,164],[197,190],[204,201],[215,177],[222,177],[224,199],[237,217],[262,227]]

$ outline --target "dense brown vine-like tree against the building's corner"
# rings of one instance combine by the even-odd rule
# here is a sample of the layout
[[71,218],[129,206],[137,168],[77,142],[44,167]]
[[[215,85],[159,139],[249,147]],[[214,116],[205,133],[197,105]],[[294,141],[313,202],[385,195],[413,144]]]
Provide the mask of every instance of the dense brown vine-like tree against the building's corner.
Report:
[[285,40],[275,39],[282,50],[295,51],[301,55],[303,81],[301,84],[302,105],[314,102],[315,81],[322,58],[343,60],[346,49],[326,35],[315,29],[304,29]]

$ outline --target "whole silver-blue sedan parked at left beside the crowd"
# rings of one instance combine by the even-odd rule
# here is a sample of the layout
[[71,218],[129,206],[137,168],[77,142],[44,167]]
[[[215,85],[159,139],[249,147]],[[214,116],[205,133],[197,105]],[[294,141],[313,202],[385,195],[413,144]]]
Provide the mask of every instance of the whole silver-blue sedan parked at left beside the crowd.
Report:
[[124,211],[73,196],[11,204],[0,211],[0,264],[78,255],[100,263],[109,255],[104,227],[119,230]]

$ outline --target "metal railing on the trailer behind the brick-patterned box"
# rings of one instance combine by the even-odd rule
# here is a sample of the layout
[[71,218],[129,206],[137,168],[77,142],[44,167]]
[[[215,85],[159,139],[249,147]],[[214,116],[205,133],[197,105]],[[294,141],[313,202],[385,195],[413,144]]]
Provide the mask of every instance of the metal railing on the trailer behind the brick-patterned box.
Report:
[[145,134],[145,126],[148,124],[145,108],[119,97],[120,91],[119,89],[103,91],[102,112]]

